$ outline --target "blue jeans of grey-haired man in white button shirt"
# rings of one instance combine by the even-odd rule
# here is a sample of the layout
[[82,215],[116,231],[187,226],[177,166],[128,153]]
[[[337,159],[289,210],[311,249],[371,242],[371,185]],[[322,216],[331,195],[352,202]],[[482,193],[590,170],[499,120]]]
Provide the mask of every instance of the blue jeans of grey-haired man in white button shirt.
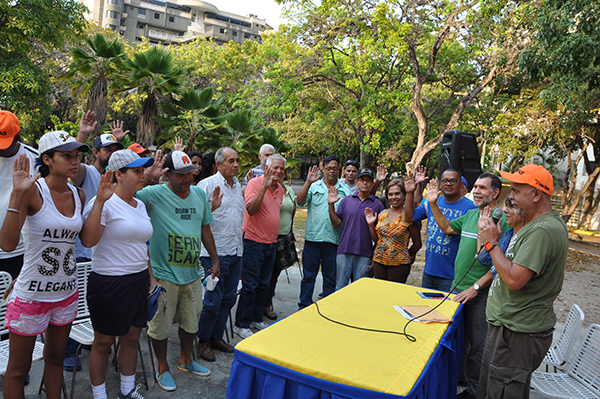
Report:
[[[207,257],[200,258],[204,273],[212,268],[212,260]],[[242,258],[240,256],[219,256],[221,274],[219,282],[212,291],[206,291],[202,301],[202,314],[198,322],[196,335],[200,341],[209,339],[223,339],[227,326],[229,311],[237,299],[237,286],[242,271]]]

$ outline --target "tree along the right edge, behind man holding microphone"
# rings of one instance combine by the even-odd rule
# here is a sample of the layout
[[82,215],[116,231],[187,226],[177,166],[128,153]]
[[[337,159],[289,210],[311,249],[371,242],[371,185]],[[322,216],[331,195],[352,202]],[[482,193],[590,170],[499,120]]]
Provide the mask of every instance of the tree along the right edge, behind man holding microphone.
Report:
[[[563,134],[557,142],[568,156],[563,216],[570,217],[584,198],[583,222],[588,225],[598,209],[595,186],[600,175],[600,30],[597,0],[540,0],[530,6],[531,46],[522,65],[534,82],[544,86],[540,98],[549,112],[557,112]],[[594,160],[587,148],[593,149]],[[573,160],[575,151],[579,156]],[[588,180],[574,195],[577,164],[583,159]]]

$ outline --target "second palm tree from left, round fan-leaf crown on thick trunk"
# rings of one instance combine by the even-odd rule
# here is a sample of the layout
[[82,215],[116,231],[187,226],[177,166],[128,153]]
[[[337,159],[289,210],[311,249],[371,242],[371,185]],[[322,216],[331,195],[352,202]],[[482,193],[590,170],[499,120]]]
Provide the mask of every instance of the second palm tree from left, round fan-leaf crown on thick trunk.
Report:
[[129,72],[118,91],[137,90],[145,96],[137,123],[137,142],[148,147],[160,130],[156,120],[158,100],[162,96],[177,93],[183,71],[175,68],[171,53],[160,46],[135,53],[127,65]]

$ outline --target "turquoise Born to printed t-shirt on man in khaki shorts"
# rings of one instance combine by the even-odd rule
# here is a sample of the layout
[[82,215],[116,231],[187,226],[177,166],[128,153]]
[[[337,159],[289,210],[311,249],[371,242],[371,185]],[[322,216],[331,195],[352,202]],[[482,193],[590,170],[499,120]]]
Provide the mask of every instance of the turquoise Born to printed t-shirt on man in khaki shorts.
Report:
[[146,205],[154,228],[150,239],[154,277],[179,285],[198,280],[202,226],[213,221],[206,192],[191,186],[183,199],[160,184],[145,187],[136,197]]

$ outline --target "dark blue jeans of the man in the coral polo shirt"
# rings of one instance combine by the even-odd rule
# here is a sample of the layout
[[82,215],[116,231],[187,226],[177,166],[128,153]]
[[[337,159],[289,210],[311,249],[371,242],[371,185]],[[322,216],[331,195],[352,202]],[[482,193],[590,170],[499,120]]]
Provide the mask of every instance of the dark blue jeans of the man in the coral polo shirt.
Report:
[[242,257],[242,292],[235,314],[235,325],[250,328],[261,322],[267,306],[267,293],[275,264],[277,244],[263,244],[244,238]]

